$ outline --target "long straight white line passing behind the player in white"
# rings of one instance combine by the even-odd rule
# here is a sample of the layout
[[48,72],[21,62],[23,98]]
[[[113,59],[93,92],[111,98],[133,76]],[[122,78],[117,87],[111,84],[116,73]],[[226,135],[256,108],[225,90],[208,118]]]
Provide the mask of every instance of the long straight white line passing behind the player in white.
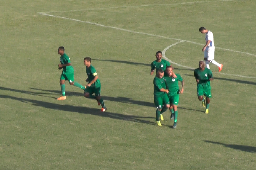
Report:
[[[92,24],[92,25],[95,25],[95,26],[100,26],[100,27],[105,27],[105,28],[117,29],[117,30],[126,31],[126,32],[130,32],[130,33],[135,33],[135,34],[144,34],[144,35],[149,35],[149,36],[156,36],[156,37],[159,37],[159,38],[166,38],[166,39],[171,39],[171,40],[189,42],[189,43],[193,43],[193,44],[197,44],[197,45],[205,45],[205,44],[200,44],[200,43],[193,42],[193,41],[182,40],[182,39],[177,39],[177,38],[170,38],[170,37],[167,37],[167,36],[148,34],[148,33],[137,32],[137,31],[131,31],[131,30],[128,30],[128,29],[122,29],[122,28],[118,28],[118,27],[105,26],[105,25],[102,25],[102,24],[97,24],[97,23],[93,23],[93,22],[89,22],[89,21],[82,21],[82,20],[79,20],[79,19],[66,18],[66,17],[51,15],[51,14],[47,14],[47,13],[43,13],[43,12],[39,12],[39,14],[50,16],[50,17],[68,19],[68,20],[71,20],[71,21],[83,22],[83,23]],[[242,53],[242,54],[246,54],[246,55],[256,56],[256,54],[251,54],[251,53],[242,52],[242,51],[235,51],[235,50],[230,50],[230,49],[224,49],[224,48],[220,48],[220,47],[215,47],[215,49],[221,49],[221,50],[225,50],[225,51],[231,51],[231,52],[237,52],[237,53]]]

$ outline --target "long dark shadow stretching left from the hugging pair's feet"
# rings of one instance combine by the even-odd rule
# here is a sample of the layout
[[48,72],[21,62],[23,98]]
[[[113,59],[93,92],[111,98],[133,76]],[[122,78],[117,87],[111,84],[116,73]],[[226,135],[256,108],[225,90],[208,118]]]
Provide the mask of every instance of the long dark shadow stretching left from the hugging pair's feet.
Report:
[[[123,115],[123,114],[119,114],[119,113],[111,113],[108,111],[101,112],[100,109],[95,109],[95,108],[73,106],[73,105],[61,105],[61,104],[55,104],[55,103],[44,102],[44,101],[39,101],[39,100],[19,98],[19,97],[14,97],[14,96],[9,96],[9,95],[0,95],[0,98],[9,98],[12,100],[21,101],[21,102],[25,102],[25,103],[32,103],[32,105],[34,105],[34,106],[44,107],[44,108],[48,108],[48,109],[76,112],[76,113],[82,113],[82,114],[91,114],[91,115],[97,115],[97,116],[101,116],[101,117],[108,117],[108,118],[112,118],[112,119],[145,123],[145,124],[149,124],[149,125],[156,125],[155,122],[151,122],[148,120],[142,120],[144,118],[154,119],[154,117]],[[142,119],[139,119],[139,118],[142,118]],[[168,125],[164,125],[164,126],[168,126]],[[170,127],[170,126],[168,126],[168,127]]]

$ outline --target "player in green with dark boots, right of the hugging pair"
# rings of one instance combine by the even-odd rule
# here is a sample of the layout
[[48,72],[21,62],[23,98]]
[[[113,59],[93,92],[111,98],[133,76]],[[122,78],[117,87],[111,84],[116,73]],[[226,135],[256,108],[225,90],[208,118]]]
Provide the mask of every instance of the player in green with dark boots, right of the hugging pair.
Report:
[[[171,111],[171,117],[170,119],[173,119],[174,117],[174,124],[173,128],[177,128],[177,118],[178,118],[178,102],[180,98],[180,93],[183,93],[184,91],[184,81],[180,74],[176,74],[177,78],[173,78],[173,68],[171,66],[167,66],[165,72],[167,73],[166,76],[164,76],[164,80],[166,83],[166,87],[169,91],[168,98],[170,101],[170,111]],[[181,81],[181,91],[179,89],[179,81]]]

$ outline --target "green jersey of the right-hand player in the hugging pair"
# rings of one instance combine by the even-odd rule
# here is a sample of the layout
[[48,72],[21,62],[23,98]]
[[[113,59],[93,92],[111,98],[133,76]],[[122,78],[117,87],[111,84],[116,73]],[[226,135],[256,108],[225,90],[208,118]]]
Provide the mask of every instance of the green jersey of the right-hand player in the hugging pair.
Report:
[[168,96],[173,96],[175,94],[178,94],[180,92],[178,82],[183,81],[180,74],[176,74],[177,78],[172,78],[169,76],[164,76],[164,80],[166,83],[166,87],[169,90]]

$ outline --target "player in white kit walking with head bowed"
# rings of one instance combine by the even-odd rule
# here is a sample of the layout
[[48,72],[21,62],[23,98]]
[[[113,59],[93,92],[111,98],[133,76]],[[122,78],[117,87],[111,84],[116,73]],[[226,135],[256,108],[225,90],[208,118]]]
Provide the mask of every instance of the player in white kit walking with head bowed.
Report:
[[215,46],[213,41],[213,33],[204,27],[200,27],[199,31],[202,34],[206,34],[206,37],[205,37],[206,45],[202,49],[202,51],[204,52],[204,61],[206,62],[206,67],[210,69],[209,63],[211,62],[219,67],[219,72],[220,72],[223,66],[222,64],[219,64],[214,60]]

